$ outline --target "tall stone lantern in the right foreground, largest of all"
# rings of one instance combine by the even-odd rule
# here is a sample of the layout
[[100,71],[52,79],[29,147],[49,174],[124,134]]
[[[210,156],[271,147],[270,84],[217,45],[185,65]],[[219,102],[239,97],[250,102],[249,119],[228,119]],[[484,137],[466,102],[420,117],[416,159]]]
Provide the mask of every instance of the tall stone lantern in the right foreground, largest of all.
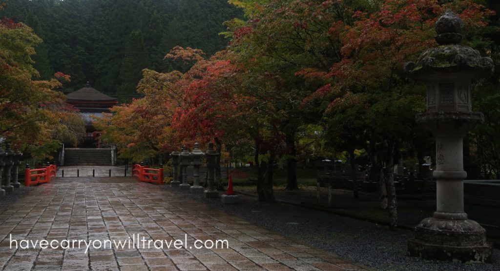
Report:
[[424,259],[479,261],[491,259],[491,244],[485,230],[463,212],[462,139],[482,121],[471,111],[471,82],[487,77],[493,61],[479,52],[458,45],[463,22],[447,10],[435,23],[439,46],[427,49],[416,63],[404,65],[410,77],[427,84],[427,112],[416,122],[432,131],[436,140],[436,211],[415,227],[408,241],[408,255]]

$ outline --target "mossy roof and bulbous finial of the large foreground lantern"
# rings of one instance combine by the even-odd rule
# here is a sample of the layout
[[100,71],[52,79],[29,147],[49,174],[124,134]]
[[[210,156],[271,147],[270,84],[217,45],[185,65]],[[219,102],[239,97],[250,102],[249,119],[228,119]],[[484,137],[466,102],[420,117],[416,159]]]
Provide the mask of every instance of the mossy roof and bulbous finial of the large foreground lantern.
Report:
[[487,77],[493,72],[493,60],[481,57],[477,50],[458,45],[462,40],[463,21],[451,10],[446,10],[435,23],[439,46],[425,50],[416,63],[404,64],[404,71],[415,79],[436,73],[466,72],[472,79]]

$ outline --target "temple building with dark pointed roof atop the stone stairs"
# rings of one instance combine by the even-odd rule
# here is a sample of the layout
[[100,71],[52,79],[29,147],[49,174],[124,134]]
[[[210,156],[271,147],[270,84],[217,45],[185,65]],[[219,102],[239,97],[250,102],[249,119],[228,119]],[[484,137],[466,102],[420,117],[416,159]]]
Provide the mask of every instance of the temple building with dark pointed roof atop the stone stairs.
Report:
[[80,115],[85,120],[85,136],[81,147],[98,147],[99,131],[92,126],[93,116],[102,116],[108,113],[109,108],[116,105],[116,98],[92,88],[87,82],[84,87],[66,95],[66,102],[80,110]]

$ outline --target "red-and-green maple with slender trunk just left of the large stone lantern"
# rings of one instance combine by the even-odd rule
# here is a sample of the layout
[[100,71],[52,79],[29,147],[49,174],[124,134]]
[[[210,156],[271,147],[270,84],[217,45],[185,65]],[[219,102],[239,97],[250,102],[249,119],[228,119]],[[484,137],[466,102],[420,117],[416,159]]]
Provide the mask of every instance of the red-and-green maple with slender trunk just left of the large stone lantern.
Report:
[[366,150],[373,175],[385,192],[380,195],[388,197],[390,228],[394,229],[397,201],[389,169],[419,129],[414,114],[425,108],[423,86],[406,79],[402,65],[434,46],[433,25],[445,8],[456,10],[468,28],[483,26],[489,12],[471,1],[441,5],[433,0],[386,0],[373,7],[369,13],[356,11],[352,26],[340,32],[341,61],[326,73],[308,70],[304,76],[331,78],[311,97],[330,97],[325,115],[332,129],[351,131],[344,133],[345,140],[356,138]]

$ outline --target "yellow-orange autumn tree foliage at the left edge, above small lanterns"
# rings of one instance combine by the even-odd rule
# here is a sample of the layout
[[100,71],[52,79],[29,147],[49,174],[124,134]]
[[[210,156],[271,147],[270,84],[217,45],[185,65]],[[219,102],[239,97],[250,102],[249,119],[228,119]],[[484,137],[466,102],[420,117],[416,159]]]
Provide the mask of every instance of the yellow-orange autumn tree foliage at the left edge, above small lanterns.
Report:
[[63,138],[76,137],[83,125],[69,125],[78,118],[75,109],[54,91],[61,86],[58,80],[69,80],[68,75],[59,72],[49,81],[34,79],[39,73],[31,56],[40,42],[25,24],[0,20],[0,137],[26,155],[45,158]]

